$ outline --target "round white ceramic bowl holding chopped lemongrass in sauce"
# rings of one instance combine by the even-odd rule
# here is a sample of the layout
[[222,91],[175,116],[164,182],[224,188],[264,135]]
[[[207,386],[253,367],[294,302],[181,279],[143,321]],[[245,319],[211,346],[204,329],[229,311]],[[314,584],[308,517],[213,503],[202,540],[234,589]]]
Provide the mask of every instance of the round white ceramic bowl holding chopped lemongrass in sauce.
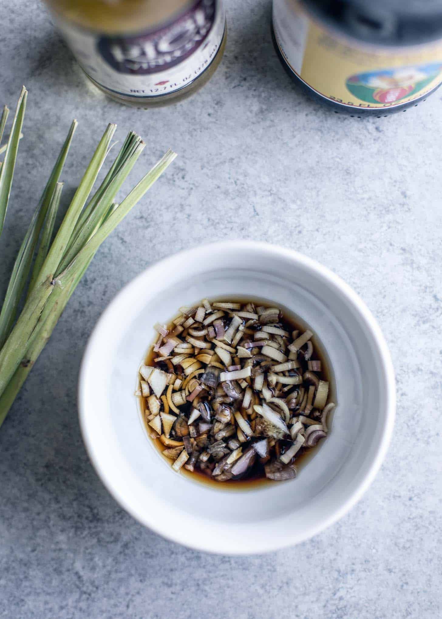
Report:
[[[175,473],[147,436],[134,387],[152,326],[181,305],[220,295],[281,303],[310,323],[329,353],[338,408],[294,480],[222,490]],[[90,459],[132,516],[189,547],[259,553],[308,539],[362,496],[391,437],[394,373],[378,324],[339,277],[289,249],[228,241],[157,262],[121,290],[85,350],[79,409]]]

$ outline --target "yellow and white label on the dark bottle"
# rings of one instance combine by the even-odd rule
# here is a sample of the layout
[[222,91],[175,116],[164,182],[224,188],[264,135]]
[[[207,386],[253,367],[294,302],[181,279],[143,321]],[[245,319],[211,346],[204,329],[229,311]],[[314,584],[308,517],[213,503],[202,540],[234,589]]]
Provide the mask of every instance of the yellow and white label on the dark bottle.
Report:
[[298,0],[274,0],[275,40],[304,84],[349,108],[392,108],[442,82],[442,45],[378,48],[359,45],[314,22]]

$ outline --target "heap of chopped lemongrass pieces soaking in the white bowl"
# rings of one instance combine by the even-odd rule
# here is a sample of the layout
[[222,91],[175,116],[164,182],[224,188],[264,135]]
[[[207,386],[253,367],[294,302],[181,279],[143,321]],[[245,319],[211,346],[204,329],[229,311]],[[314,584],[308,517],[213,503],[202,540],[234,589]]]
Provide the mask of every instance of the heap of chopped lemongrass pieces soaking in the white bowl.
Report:
[[[152,353],[145,373],[150,384],[157,370],[167,372],[167,392],[160,400],[154,396],[158,410],[156,415],[147,410],[146,423],[162,420],[161,426],[155,422],[155,433],[162,432],[166,456],[176,462],[188,458],[184,465],[191,472],[222,482],[257,473],[293,478],[293,461],[326,436],[327,414],[334,407],[327,404],[322,366],[314,361],[318,350],[315,355],[311,338],[293,350],[299,334],[279,308],[253,303],[217,308],[216,303],[206,299],[181,308],[180,324],[157,327],[162,341],[155,350],[170,353],[156,358]],[[141,381],[139,388],[142,393]]]

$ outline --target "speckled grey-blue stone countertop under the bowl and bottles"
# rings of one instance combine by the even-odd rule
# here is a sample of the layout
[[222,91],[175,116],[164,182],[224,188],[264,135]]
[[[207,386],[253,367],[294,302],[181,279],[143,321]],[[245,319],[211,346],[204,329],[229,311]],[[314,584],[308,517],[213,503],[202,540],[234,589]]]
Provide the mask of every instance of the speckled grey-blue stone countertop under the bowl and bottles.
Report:
[[[65,201],[108,122],[119,139],[145,137],[145,167],[169,146],[179,157],[98,252],[0,430],[0,617],[441,617],[442,92],[389,118],[330,113],[280,67],[269,2],[230,0],[214,78],[139,111],[90,89],[37,0],[1,5],[0,103],[29,90],[1,290],[72,118]],[[115,293],[170,251],[221,238],[330,267],[375,314],[397,374],[391,448],[363,500],[308,542],[243,558],[193,552],[128,516],[92,469],[76,410],[80,358]]]

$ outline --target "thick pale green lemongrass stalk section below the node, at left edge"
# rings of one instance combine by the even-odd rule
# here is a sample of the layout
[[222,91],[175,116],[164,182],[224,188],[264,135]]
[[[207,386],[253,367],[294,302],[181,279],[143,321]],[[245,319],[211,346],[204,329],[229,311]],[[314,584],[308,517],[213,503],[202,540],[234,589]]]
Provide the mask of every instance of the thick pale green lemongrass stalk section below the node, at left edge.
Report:
[[24,350],[32,344],[38,334],[35,327],[40,320],[40,314],[45,303],[55,288],[56,282],[46,280],[32,291],[25,303],[22,313],[11,331],[11,334],[0,350],[0,394],[20,365]]

